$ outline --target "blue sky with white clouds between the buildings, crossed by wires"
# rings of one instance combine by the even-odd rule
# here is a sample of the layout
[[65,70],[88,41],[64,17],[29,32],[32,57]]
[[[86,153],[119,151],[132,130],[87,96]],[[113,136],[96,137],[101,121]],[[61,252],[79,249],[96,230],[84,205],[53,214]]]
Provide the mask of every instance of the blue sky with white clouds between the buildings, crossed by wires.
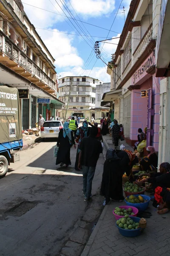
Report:
[[[119,43],[117,37],[122,32],[130,0],[122,0],[122,3],[121,0],[22,2],[29,20],[55,58],[59,79],[64,76],[91,76],[103,82],[111,81],[111,77],[106,73],[106,64],[111,61],[111,54],[116,51]],[[94,45],[96,41],[106,38],[113,39],[99,42],[101,60],[96,58]]]

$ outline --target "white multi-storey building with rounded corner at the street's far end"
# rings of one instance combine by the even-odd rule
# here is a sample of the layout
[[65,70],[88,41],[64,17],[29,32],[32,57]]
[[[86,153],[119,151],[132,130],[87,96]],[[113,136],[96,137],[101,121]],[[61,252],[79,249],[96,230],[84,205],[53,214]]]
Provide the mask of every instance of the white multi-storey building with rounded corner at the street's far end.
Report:
[[91,119],[95,117],[96,85],[102,84],[99,79],[88,76],[65,76],[59,79],[58,95],[62,102],[65,102],[65,111],[70,98],[67,116],[82,116]]

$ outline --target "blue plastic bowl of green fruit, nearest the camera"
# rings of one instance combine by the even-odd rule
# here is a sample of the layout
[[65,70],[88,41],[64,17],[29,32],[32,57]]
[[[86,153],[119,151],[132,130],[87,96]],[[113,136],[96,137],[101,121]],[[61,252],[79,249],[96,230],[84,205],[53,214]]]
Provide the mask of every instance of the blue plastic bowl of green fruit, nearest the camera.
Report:
[[139,227],[139,221],[140,218],[138,217],[121,218],[116,221],[116,227],[119,229],[119,233],[122,236],[139,236],[144,230]]

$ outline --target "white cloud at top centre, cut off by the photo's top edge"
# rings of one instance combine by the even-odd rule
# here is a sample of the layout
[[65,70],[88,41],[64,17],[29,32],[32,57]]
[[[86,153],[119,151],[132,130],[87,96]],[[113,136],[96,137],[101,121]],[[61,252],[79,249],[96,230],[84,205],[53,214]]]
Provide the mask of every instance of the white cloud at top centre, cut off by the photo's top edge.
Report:
[[111,14],[115,0],[71,0],[71,5],[78,14],[98,17]]

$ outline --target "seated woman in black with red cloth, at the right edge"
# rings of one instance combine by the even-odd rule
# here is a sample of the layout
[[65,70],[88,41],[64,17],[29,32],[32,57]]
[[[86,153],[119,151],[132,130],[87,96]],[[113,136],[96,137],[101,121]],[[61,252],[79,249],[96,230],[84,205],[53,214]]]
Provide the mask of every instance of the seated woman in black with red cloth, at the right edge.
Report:
[[142,180],[139,185],[143,182],[152,183],[155,188],[153,206],[156,208],[159,206],[159,214],[167,213],[170,209],[170,164],[161,163],[159,172],[143,175],[148,176],[148,178]]

